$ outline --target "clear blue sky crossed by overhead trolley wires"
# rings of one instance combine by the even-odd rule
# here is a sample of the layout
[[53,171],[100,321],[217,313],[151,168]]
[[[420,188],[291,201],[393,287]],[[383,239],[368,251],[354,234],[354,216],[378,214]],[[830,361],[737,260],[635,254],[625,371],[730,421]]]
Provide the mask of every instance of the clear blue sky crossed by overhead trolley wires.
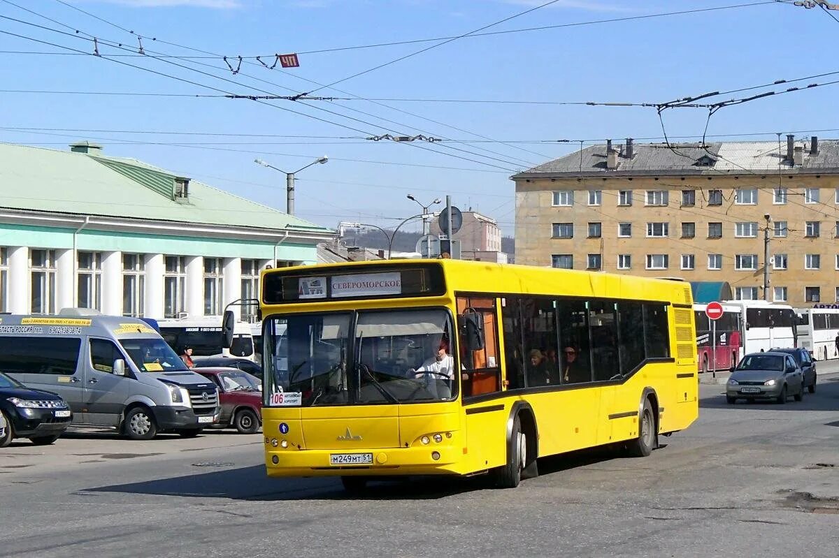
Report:
[[[56,0],[10,0],[23,8],[106,41],[123,41],[136,48],[132,35],[96,20]],[[755,0],[751,0],[754,2]],[[143,37],[211,53],[256,55],[291,53],[426,39],[464,34],[507,18],[539,0],[67,0],[68,3]],[[529,28],[607,18],[627,18],[696,8],[730,6],[750,0],[560,0],[489,30]],[[833,12],[839,18],[839,11]],[[0,16],[17,18],[73,34],[59,23],[39,18],[0,2]],[[55,34],[8,19],[0,30],[90,52],[91,42]],[[821,9],[784,3],[690,13],[636,21],[600,23],[516,34],[458,39],[337,88],[365,98],[472,99],[500,101],[669,101],[713,90],[730,90],[779,79],[792,79],[839,70],[832,39],[839,22]],[[84,36],[84,35],[82,35]],[[196,54],[150,39],[144,46],[158,53]],[[238,94],[294,95],[329,84],[358,71],[399,58],[432,43],[404,44],[322,54],[300,54],[300,68],[269,71],[243,65],[232,75],[220,59],[173,60],[236,83],[149,58],[123,62],[211,85]],[[129,54],[107,44],[100,53]],[[0,51],[66,52],[0,34]],[[273,63],[269,58],[269,64]],[[237,63],[234,62],[234,65]],[[213,94],[206,88],[107,59],[81,55],[0,54],[3,90],[77,90]],[[223,70],[222,70],[223,69]],[[248,75],[243,75],[248,74]],[[266,83],[266,80],[271,83]],[[802,82],[824,82],[839,75]],[[782,86],[778,86],[781,88]],[[255,88],[255,89],[254,89]],[[760,92],[763,90],[756,90]],[[732,106],[711,120],[709,133],[788,132],[839,128],[836,92],[827,85],[789,95]],[[316,93],[347,96],[335,90]],[[335,227],[344,220],[392,225],[419,207],[405,198],[414,194],[428,202],[451,193],[462,209],[469,206],[497,219],[512,234],[513,183],[516,170],[544,163],[575,147],[562,144],[519,144],[529,151],[500,143],[415,143],[364,140],[300,139],[289,137],[175,136],[109,131],[209,132],[275,136],[366,137],[399,132],[432,137],[477,140],[598,139],[659,137],[658,116],[651,108],[550,105],[477,105],[387,101],[384,104],[439,123],[394,111],[369,101],[312,101],[359,121],[342,118],[293,101],[271,104],[357,128],[352,131],[248,100],[156,96],[80,96],[0,93],[0,127],[69,128],[71,132],[14,132],[0,129],[0,141],[66,148],[69,142],[91,139],[113,156],[139,158],[201,179],[278,209],[285,207],[284,176],[253,163],[267,160],[287,171],[327,154],[330,162],[299,175],[298,216]],[[368,114],[361,114],[357,109]],[[386,118],[397,123],[383,121]],[[700,134],[702,109],[665,112],[673,136]],[[451,127],[461,128],[461,131]],[[801,134],[807,135],[807,134]],[[836,137],[837,132],[821,132]],[[773,136],[753,139],[774,139]],[[126,142],[213,143],[201,148]],[[121,143],[122,142],[122,143]],[[326,143],[331,142],[331,143]],[[335,142],[344,142],[337,144]],[[579,144],[578,144],[579,145]],[[428,147],[434,152],[419,147]],[[209,149],[207,147],[216,147]],[[224,151],[229,149],[234,151]],[[465,149],[477,155],[458,152]],[[497,153],[482,151],[489,149]],[[448,157],[471,158],[480,163]],[[500,153],[500,154],[498,154]],[[486,156],[486,157],[484,157]],[[358,163],[367,159],[388,163]],[[498,161],[495,159],[503,159]],[[491,165],[496,165],[497,168]],[[432,167],[455,167],[451,170]],[[479,170],[478,170],[479,169]],[[410,230],[410,227],[408,227]]]

